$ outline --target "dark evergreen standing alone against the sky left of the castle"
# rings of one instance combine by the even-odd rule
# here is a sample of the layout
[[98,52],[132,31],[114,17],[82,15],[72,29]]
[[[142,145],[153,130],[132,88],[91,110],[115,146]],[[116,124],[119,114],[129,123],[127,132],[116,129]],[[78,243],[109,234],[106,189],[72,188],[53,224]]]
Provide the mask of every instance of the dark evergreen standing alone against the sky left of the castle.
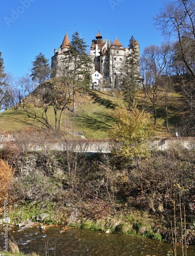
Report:
[[44,54],[39,53],[35,57],[35,61],[32,61],[32,77],[33,81],[38,82],[40,85],[42,82],[46,81],[50,76],[50,64],[49,59],[45,58]]

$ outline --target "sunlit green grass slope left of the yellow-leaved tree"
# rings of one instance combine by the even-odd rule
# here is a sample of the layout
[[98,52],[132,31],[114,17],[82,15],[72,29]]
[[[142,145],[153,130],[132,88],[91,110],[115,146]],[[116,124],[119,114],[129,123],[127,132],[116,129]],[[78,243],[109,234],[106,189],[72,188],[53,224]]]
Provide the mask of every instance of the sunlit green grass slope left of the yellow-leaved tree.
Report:
[[[87,98],[76,98],[76,113],[74,118],[74,131],[83,133],[86,138],[107,138],[107,131],[114,121],[113,111],[117,104],[122,103],[118,97],[107,93],[92,92]],[[54,127],[53,106],[47,112],[49,123]],[[46,128],[44,111],[41,108],[9,109],[0,114],[0,127],[3,133],[12,133],[27,130]],[[73,115],[65,110],[61,119],[61,129],[72,132]]]

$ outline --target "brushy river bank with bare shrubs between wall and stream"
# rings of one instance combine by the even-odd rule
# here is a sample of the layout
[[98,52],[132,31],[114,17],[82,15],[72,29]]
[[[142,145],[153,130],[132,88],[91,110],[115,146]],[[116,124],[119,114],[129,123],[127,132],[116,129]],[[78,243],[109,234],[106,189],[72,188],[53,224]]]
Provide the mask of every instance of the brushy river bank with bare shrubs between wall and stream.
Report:
[[4,151],[2,159],[14,169],[6,192],[9,218],[15,224],[28,219],[167,243],[174,233],[174,242],[186,238],[187,245],[194,244],[192,153],[155,152],[137,164],[81,152],[31,152],[6,159]]

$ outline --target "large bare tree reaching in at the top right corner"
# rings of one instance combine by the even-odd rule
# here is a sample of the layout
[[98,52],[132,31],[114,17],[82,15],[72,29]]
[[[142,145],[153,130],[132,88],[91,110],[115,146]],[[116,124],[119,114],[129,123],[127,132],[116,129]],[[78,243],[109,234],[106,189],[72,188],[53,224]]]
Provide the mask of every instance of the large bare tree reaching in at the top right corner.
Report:
[[178,40],[182,60],[191,76],[195,78],[195,3],[194,0],[167,2],[155,17],[156,26],[167,37]]

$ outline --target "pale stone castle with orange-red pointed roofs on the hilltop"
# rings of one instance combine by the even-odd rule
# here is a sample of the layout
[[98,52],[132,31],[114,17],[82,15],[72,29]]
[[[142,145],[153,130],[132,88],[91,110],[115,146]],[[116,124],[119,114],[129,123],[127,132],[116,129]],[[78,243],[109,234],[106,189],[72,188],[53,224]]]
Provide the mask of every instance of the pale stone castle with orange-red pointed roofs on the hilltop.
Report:
[[[69,44],[70,40],[66,32],[61,46],[58,48],[58,51],[54,49],[54,56],[52,56],[51,68],[56,71],[55,76],[60,76],[57,70],[66,52],[69,50]],[[134,45],[139,58],[140,50],[137,40],[134,40]],[[116,84],[122,72],[125,57],[130,51],[129,48],[124,48],[117,38],[111,43],[111,40],[103,39],[100,32],[98,32],[95,39],[92,40],[90,47],[90,57],[92,59],[92,89],[101,90],[102,84],[104,84],[104,88],[111,88],[113,83]]]

